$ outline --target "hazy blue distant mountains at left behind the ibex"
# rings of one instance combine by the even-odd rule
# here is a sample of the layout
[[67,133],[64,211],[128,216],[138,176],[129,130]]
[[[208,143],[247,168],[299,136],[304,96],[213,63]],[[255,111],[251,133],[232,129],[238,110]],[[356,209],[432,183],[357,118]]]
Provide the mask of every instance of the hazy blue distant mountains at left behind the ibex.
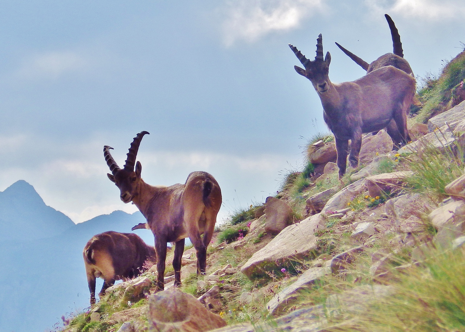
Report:
[[[82,248],[94,234],[130,233],[140,222],[140,212],[114,211],[74,224],[23,180],[0,192],[0,332],[43,332],[86,308]],[[133,233],[153,245],[149,230]]]

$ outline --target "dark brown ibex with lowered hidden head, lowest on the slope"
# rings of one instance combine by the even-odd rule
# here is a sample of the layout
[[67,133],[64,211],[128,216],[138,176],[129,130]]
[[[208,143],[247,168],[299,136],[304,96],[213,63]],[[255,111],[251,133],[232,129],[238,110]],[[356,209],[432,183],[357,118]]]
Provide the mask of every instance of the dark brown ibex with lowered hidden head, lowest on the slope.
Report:
[[86,267],[87,283],[90,291],[90,304],[95,303],[95,279],[103,278],[99,296],[106,288],[113,286],[115,280],[137,277],[144,271],[144,262],[156,262],[153,247],[136,234],[105,232],[94,235],[82,251]]

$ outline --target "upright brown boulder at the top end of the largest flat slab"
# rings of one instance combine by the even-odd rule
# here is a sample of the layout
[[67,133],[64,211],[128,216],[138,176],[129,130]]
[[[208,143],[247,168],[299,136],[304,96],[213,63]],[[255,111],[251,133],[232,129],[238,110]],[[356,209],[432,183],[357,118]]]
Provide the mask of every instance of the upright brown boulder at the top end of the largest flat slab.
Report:
[[264,205],[266,232],[278,234],[292,222],[292,208],[285,201],[268,196]]

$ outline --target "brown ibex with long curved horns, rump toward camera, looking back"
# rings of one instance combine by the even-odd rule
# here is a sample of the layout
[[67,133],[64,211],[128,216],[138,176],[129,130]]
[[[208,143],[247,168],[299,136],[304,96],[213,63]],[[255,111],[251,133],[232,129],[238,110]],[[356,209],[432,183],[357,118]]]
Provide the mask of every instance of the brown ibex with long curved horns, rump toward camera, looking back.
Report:
[[[157,252],[157,290],[164,289],[166,243],[175,242],[174,285],[181,284],[181,257],[184,239],[189,237],[197,254],[197,273],[206,269],[206,247],[212,240],[216,215],[221,207],[221,189],[218,182],[206,172],[193,172],[185,184],[169,187],[151,186],[140,178],[142,166],[135,163],[142,137],[142,131],[134,137],[127,153],[124,168],[120,169],[105,145],[103,154],[112,174],[107,174],[120,189],[121,201],[133,202],[147,220],[155,236]],[[135,170],[134,170],[135,163]],[[143,225],[143,224],[142,224]],[[203,234],[203,237],[200,235]]]

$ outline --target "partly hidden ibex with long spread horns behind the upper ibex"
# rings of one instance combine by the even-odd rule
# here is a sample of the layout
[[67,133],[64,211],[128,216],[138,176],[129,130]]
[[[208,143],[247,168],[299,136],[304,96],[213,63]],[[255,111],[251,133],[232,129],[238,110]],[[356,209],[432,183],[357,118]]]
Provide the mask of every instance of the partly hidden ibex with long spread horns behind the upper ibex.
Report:
[[413,75],[412,68],[410,68],[409,63],[407,60],[404,59],[404,50],[402,49],[402,43],[400,42],[400,35],[399,31],[394,24],[394,21],[388,14],[384,15],[387,24],[389,25],[389,29],[391,30],[391,37],[392,37],[392,53],[386,53],[385,55],[381,55],[378,59],[374,60],[370,65],[367,62],[360,59],[358,56],[353,54],[352,52],[347,51],[344,47],[340,46],[338,43],[336,45],[349,56],[352,60],[355,61],[357,65],[362,67],[366,70],[366,73],[372,72],[377,70],[381,67],[392,65],[401,71],[406,72],[409,75]]

